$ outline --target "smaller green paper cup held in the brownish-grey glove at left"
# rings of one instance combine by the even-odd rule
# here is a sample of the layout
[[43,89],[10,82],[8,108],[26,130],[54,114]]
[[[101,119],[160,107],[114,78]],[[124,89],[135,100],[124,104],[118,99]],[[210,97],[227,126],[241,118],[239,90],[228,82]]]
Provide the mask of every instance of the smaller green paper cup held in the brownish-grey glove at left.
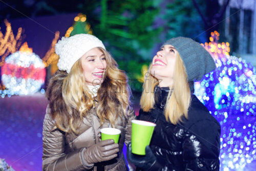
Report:
[[115,143],[118,143],[121,131],[118,129],[114,129],[112,127],[106,127],[104,129],[100,129],[100,133],[101,133],[101,141],[113,139]]

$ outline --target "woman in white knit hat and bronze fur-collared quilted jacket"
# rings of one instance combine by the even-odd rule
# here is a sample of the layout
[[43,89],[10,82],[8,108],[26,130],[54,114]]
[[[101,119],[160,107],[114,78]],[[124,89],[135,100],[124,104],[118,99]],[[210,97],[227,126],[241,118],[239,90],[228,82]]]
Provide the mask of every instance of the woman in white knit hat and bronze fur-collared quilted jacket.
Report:
[[[127,76],[90,34],[63,37],[55,46],[58,71],[49,81],[43,126],[43,170],[127,170],[123,144],[131,141]],[[121,131],[119,142],[100,129]]]

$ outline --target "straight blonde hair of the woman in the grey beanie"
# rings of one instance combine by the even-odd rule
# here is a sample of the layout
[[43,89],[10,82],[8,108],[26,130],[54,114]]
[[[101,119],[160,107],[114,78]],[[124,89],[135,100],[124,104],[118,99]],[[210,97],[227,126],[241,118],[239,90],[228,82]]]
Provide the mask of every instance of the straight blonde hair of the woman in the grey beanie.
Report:
[[[152,65],[145,75],[143,92],[140,99],[141,109],[149,112],[154,108],[154,89],[159,84],[157,78],[150,74]],[[176,53],[176,63],[173,77],[173,87],[170,87],[169,94],[164,107],[166,121],[173,124],[182,122],[183,116],[187,118],[188,108],[191,101],[191,92],[187,81],[186,69],[179,53]]]

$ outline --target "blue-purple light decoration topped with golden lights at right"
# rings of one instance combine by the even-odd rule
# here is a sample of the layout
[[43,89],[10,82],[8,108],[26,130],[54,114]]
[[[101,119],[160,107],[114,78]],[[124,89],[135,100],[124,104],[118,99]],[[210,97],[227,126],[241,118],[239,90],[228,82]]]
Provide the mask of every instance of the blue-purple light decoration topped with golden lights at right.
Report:
[[229,56],[217,37],[205,46],[217,69],[195,82],[195,95],[221,124],[220,170],[243,170],[256,162],[256,69]]

